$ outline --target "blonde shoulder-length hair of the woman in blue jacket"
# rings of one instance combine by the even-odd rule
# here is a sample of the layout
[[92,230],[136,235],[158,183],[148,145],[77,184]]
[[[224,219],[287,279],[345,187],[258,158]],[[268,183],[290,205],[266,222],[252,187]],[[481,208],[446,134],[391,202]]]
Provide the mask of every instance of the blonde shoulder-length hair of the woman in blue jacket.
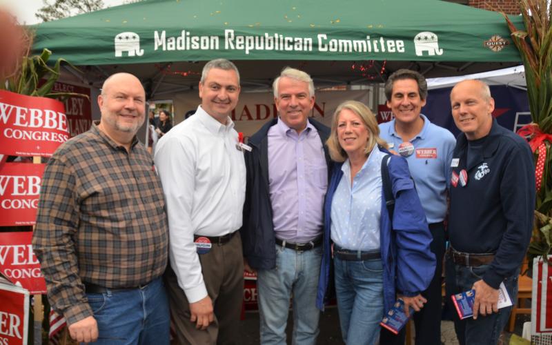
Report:
[[351,110],[358,115],[368,130],[368,141],[366,142],[366,149],[364,150],[366,155],[372,151],[375,144],[387,148],[386,141],[380,138],[380,128],[377,126],[375,115],[370,108],[359,101],[344,101],[337,106],[337,109],[335,109],[333,113],[332,130],[330,137],[328,137],[328,141],[326,141],[330,157],[334,161],[345,161],[345,159],[347,159],[347,152],[339,145],[339,140],[337,139],[337,120],[339,119],[339,113],[344,109]]

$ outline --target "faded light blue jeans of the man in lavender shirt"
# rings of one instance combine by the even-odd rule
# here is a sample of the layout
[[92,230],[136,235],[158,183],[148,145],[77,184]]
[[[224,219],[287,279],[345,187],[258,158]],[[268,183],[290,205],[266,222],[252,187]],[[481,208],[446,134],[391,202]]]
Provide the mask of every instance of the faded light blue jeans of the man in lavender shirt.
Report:
[[286,324],[293,294],[292,344],[316,344],[320,311],[316,292],[322,247],[297,252],[276,246],[276,267],[257,271],[261,344],[286,344]]

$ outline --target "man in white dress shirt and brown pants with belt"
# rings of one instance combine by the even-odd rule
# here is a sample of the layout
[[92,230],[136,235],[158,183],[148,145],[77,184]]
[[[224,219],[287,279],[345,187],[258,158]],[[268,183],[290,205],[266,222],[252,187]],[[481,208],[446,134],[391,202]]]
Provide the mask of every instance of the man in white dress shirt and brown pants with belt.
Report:
[[244,264],[237,230],[246,168],[230,119],[239,90],[233,63],[206,63],[201,106],[155,150],[170,234],[166,284],[179,344],[239,343]]

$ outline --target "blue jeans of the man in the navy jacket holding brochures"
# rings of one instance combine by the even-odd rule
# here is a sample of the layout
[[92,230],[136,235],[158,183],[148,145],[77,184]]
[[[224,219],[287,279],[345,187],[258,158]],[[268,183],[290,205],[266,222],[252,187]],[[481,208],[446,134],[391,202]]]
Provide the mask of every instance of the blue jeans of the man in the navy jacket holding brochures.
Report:
[[[487,269],[489,269],[489,265],[460,266],[454,264],[449,257],[446,258],[446,301],[453,311],[454,328],[461,345],[497,344],[500,333],[508,323],[511,306],[500,308],[498,313],[480,315],[476,320],[472,317],[461,320],[452,304],[450,296],[471,290],[473,283],[482,279]],[[517,276],[519,274],[520,269],[518,268],[514,275],[504,279],[504,286],[506,286],[513,304],[517,301]]]

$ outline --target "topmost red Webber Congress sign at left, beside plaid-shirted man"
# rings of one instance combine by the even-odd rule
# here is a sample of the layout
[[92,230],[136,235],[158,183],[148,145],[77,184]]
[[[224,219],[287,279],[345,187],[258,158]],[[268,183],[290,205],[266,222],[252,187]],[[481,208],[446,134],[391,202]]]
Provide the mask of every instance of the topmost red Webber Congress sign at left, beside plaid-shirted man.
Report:
[[69,139],[63,103],[0,90],[0,153],[50,157]]

